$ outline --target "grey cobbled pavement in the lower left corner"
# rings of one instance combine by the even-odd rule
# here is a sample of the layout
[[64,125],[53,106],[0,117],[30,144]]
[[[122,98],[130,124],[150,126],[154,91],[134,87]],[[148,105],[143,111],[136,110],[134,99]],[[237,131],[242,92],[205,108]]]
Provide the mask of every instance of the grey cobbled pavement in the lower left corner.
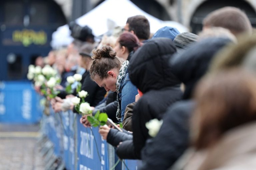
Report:
[[44,170],[38,125],[0,124],[0,170]]

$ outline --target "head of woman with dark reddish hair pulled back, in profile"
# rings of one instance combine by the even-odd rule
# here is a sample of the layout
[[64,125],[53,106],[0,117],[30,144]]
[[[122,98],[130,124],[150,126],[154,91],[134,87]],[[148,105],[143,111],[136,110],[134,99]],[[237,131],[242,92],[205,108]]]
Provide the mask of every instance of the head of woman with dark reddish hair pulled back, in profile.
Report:
[[132,33],[121,34],[115,44],[116,55],[125,60],[130,60],[134,51],[140,47],[139,39]]

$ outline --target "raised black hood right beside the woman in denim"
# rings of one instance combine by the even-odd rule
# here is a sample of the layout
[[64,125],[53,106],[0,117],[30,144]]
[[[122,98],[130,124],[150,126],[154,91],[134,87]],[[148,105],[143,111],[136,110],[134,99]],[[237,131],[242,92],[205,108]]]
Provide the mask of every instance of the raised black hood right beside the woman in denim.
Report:
[[180,84],[168,64],[175,52],[174,43],[167,38],[156,38],[145,43],[130,60],[128,71],[132,83],[142,93]]

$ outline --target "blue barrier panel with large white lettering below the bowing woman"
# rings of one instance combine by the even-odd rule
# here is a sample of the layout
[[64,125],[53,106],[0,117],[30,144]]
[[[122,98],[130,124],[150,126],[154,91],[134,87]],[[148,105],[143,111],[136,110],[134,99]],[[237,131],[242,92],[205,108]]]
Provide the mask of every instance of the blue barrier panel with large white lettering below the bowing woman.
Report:
[[85,128],[77,116],[78,170],[109,170],[107,142],[98,133],[99,128]]

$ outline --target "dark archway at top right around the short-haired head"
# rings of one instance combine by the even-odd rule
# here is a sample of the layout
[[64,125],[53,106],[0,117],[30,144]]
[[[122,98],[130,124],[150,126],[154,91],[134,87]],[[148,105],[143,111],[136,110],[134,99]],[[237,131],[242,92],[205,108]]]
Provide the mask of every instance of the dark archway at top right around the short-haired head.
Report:
[[246,13],[252,26],[256,26],[256,13],[253,7],[244,0],[208,0],[203,2],[194,12],[190,20],[192,33],[197,34],[202,30],[203,19],[212,11],[225,7],[233,6],[240,8]]

